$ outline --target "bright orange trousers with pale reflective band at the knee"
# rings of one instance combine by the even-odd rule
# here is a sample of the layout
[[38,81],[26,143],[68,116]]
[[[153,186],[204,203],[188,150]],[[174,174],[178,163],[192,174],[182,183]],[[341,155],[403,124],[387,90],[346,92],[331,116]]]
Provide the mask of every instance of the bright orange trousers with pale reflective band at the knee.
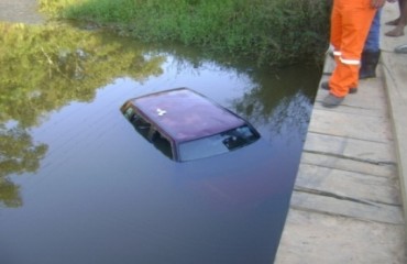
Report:
[[358,87],[361,54],[376,11],[371,0],[333,0],[330,42],[337,67],[329,87],[337,97]]

